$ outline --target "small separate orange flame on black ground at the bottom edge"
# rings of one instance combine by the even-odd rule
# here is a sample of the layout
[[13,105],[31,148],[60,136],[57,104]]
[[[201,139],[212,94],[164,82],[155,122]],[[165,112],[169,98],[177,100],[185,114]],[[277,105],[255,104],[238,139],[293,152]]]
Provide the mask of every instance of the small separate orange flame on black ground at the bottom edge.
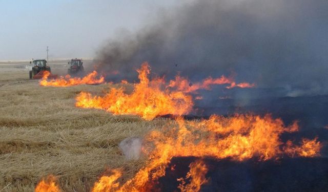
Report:
[[190,183],[186,185],[186,181],[183,178],[177,179],[181,181],[181,184],[178,186],[181,189],[181,192],[195,192],[199,191],[201,185],[206,184],[208,180],[205,178],[205,175],[208,172],[208,168],[203,161],[197,160],[190,163],[190,171],[187,173],[186,179],[190,179]]

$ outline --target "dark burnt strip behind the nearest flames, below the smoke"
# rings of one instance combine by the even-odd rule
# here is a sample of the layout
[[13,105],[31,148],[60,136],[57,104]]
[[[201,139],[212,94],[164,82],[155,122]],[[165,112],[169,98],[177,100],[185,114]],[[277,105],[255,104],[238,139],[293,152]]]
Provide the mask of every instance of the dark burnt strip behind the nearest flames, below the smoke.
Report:
[[[298,120],[301,126],[328,125],[328,95],[287,97],[282,89],[232,89],[202,91],[196,100],[197,116],[234,113],[272,114],[285,123]],[[224,94],[220,97],[220,94]]]

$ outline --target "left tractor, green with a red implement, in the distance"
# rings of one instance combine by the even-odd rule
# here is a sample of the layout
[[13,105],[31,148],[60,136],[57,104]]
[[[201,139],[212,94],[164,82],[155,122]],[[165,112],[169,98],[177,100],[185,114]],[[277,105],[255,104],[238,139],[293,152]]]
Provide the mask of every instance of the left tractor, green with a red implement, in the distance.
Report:
[[[49,66],[47,66],[46,59],[37,59],[30,61],[30,64],[33,62],[32,71],[30,71],[30,79],[40,79],[43,77],[45,71],[51,72]],[[49,78],[56,78],[57,75],[49,75]]]

